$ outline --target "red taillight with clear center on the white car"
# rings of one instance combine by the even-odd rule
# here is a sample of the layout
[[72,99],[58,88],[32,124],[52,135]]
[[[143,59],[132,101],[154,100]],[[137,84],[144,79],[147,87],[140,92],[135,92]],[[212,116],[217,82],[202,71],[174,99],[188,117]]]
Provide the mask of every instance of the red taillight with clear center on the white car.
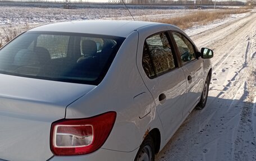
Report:
[[55,155],[92,153],[104,144],[116,120],[116,112],[52,123],[51,150]]

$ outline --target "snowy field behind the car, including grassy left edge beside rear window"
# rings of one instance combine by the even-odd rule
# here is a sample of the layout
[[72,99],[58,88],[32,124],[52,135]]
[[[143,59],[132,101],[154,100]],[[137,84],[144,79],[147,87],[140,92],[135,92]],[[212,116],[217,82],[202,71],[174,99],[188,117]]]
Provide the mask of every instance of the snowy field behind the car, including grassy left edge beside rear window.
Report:
[[[75,4],[74,4],[75,5]],[[17,33],[31,27],[54,22],[81,21],[95,19],[132,20],[124,5],[81,4],[74,10],[62,8],[61,3],[11,3],[0,2],[0,34],[13,29]],[[49,7],[51,6],[51,7]],[[196,12],[185,6],[129,6],[135,20],[150,21],[175,17]],[[205,9],[203,11],[211,11]],[[201,10],[202,11],[202,10]],[[3,37],[0,37],[0,42]]]

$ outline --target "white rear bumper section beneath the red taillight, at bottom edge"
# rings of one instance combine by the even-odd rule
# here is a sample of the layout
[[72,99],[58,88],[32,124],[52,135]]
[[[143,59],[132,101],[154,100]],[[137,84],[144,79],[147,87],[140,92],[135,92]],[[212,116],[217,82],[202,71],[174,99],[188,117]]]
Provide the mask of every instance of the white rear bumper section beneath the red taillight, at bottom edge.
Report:
[[100,148],[99,150],[91,154],[75,156],[54,156],[48,161],[131,161],[135,159],[137,151],[138,149],[131,152],[122,152]]

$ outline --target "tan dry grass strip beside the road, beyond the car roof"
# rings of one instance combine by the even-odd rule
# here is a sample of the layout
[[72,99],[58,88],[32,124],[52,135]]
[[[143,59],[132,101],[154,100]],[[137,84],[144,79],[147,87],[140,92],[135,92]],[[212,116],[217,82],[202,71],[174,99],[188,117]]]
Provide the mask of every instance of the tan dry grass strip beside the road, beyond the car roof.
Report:
[[195,25],[206,25],[209,22],[214,20],[224,19],[225,17],[231,14],[239,14],[249,12],[248,9],[236,9],[236,10],[218,10],[218,11],[198,11],[195,13],[191,13],[190,15],[180,16],[180,17],[173,17],[171,19],[159,19],[156,22],[162,22],[166,24],[172,24],[180,27],[181,29],[188,29]]

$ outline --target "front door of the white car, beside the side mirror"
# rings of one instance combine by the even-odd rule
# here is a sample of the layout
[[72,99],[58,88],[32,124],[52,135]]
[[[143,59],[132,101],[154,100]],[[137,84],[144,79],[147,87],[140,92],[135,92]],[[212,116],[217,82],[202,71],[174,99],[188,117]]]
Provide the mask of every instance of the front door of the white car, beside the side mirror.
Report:
[[173,31],[172,36],[186,77],[188,90],[184,108],[184,116],[186,116],[199,102],[202,93],[204,83],[203,60],[196,58],[195,45],[184,34]]

